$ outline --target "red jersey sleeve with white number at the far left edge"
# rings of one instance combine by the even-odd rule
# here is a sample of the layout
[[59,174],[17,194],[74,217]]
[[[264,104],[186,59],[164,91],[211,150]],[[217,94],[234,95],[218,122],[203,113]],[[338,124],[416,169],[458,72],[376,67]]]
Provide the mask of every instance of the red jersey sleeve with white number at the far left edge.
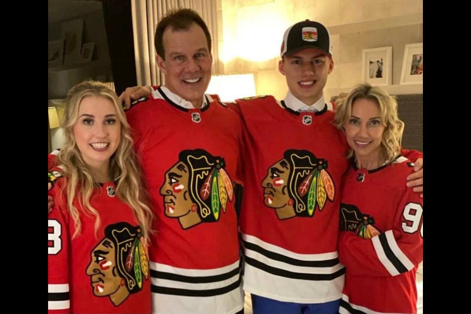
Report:
[[48,313],[70,313],[68,215],[59,200],[58,187],[50,191],[54,208],[48,215]]

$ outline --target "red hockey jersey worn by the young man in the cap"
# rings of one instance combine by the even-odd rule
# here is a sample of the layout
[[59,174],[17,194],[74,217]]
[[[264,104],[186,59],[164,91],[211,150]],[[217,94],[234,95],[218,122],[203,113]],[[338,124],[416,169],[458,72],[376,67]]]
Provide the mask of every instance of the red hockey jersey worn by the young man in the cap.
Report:
[[337,253],[346,140],[327,105],[295,112],[273,97],[237,101],[245,127],[240,229],[244,289],[297,303],[341,298]]

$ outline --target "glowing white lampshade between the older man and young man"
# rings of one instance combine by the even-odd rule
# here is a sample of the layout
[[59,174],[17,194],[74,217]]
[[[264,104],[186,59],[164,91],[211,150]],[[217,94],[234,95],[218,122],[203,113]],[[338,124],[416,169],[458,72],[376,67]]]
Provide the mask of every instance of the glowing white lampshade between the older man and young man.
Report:
[[223,102],[256,96],[254,74],[213,75],[207,94],[217,94]]

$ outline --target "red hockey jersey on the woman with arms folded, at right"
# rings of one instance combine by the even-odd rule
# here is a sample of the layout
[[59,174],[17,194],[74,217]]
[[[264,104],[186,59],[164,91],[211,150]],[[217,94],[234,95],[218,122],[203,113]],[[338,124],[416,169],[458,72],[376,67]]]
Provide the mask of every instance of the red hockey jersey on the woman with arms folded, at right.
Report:
[[341,314],[417,313],[423,205],[404,184],[412,172],[405,157],[376,170],[349,169],[340,207]]

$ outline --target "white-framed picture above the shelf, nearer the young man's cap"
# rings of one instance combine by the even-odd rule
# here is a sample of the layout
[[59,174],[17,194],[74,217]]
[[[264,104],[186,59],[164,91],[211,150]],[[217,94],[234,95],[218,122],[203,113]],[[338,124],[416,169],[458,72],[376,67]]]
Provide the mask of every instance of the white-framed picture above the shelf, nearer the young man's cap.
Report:
[[392,47],[362,51],[362,80],[371,85],[391,85]]

